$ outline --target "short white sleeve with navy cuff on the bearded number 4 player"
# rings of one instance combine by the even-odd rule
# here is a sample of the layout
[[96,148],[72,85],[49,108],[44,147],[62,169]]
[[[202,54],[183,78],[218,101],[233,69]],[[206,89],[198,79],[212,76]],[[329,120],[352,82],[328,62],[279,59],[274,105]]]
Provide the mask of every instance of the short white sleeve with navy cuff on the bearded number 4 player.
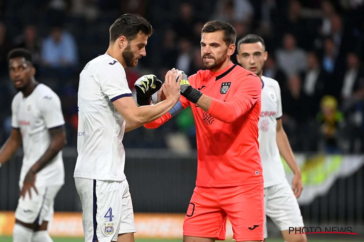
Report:
[[122,97],[132,97],[123,66],[115,60],[109,62],[103,63],[98,71],[102,92],[111,102]]

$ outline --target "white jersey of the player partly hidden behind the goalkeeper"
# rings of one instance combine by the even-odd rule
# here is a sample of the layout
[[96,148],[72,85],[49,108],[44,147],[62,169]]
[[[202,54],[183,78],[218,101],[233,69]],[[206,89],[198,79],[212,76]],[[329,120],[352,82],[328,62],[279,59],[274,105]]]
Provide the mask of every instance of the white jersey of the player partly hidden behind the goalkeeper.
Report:
[[281,89],[272,78],[262,76],[262,82],[258,141],[266,188],[285,182],[286,175],[276,141],[277,119],[282,117]]

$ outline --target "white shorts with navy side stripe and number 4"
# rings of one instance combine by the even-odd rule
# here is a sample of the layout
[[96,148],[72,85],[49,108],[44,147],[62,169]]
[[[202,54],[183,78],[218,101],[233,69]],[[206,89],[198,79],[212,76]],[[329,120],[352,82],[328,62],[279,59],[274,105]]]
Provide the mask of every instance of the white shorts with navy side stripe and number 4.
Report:
[[135,233],[129,184],[75,177],[82,203],[85,242],[117,241],[118,234]]

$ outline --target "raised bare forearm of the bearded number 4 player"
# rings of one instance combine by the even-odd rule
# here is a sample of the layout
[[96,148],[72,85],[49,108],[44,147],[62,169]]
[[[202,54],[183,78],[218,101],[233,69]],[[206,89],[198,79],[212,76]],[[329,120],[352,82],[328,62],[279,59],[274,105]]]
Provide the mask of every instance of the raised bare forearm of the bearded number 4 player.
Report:
[[138,113],[136,115],[137,122],[132,123],[131,125],[137,127],[161,118],[171,110],[175,104],[176,103],[173,100],[166,99],[155,105],[138,107]]

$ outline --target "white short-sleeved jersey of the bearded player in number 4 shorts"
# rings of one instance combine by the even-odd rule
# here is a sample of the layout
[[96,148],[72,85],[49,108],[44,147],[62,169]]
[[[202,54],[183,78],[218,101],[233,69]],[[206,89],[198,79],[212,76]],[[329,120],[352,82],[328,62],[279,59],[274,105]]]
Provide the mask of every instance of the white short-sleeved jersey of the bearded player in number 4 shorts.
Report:
[[78,87],[78,157],[74,177],[123,181],[125,121],[112,102],[132,97],[123,66],[108,54],[87,63]]

